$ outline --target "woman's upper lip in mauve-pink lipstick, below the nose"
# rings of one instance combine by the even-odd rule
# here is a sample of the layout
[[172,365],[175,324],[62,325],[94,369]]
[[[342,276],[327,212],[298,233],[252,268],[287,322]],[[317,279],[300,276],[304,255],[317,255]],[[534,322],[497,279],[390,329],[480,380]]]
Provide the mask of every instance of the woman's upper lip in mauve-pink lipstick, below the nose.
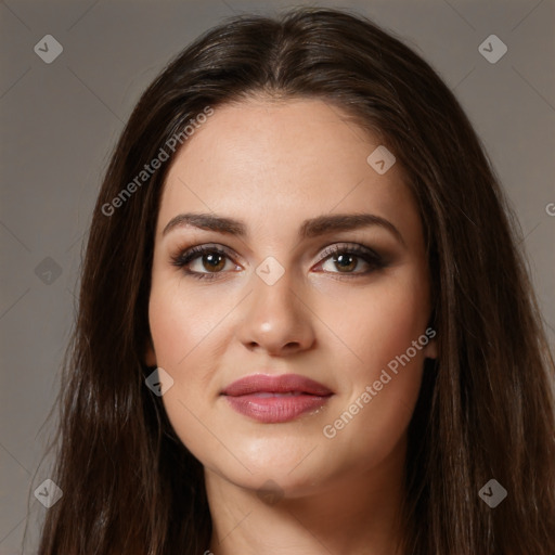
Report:
[[253,374],[230,384],[222,390],[222,395],[241,397],[243,395],[258,392],[286,393],[291,391],[298,391],[320,397],[333,393],[331,389],[319,382],[298,374]]

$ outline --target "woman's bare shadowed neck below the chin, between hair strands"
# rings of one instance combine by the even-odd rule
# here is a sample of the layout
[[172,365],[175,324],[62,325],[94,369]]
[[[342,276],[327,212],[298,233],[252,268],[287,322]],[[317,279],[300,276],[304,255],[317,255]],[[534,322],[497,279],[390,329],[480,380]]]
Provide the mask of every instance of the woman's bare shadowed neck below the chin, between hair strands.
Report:
[[402,555],[405,439],[378,467],[343,476],[302,496],[260,499],[205,470],[214,555]]

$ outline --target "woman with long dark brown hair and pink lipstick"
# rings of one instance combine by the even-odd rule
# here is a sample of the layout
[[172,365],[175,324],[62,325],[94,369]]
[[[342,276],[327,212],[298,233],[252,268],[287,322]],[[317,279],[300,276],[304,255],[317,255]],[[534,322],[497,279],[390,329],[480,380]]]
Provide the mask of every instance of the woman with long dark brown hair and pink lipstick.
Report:
[[319,9],[208,31],[99,195],[40,553],[555,553],[517,243],[397,39]]

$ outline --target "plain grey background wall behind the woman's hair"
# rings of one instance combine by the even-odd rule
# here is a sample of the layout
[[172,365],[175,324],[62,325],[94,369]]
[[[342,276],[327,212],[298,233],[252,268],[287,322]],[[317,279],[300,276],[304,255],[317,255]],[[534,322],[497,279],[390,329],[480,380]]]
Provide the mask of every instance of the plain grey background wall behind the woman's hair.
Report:
[[[24,553],[36,552],[47,508],[33,491],[49,477],[51,461],[39,463],[55,424],[46,418],[73,325],[83,237],[124,121],[162,66],[221,17],[301,3],[0,1],[0,554],[22,553],[26,527]],[[454,90],[517,210],[553,340],[554,1],[319,5],[374,18]],[[491,34],[508,48],[495,64],[478,51]],[[51,64],[34,51],[46,35],[64,49]]]

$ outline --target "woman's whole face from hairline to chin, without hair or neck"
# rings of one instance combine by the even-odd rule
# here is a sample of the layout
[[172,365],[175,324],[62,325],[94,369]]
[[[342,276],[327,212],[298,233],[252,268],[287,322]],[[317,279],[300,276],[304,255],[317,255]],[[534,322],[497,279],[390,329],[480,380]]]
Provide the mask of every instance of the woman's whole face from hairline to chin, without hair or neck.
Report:
[[146,362],[219,478],[293,498],[403,456],[435,332],[417,208],[378,146],[323,101],[253,100],[170,168]]

